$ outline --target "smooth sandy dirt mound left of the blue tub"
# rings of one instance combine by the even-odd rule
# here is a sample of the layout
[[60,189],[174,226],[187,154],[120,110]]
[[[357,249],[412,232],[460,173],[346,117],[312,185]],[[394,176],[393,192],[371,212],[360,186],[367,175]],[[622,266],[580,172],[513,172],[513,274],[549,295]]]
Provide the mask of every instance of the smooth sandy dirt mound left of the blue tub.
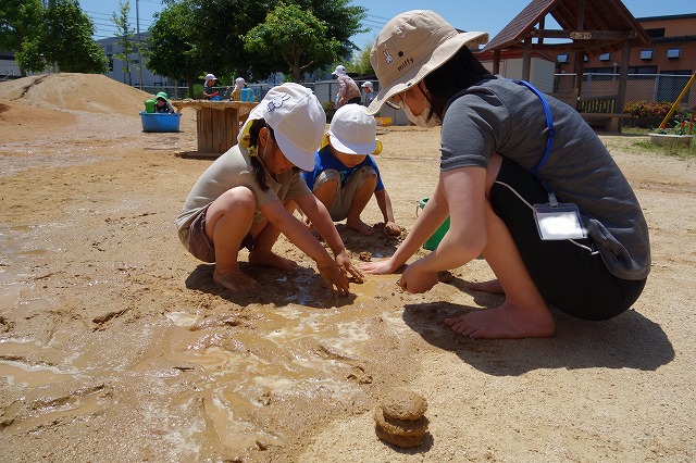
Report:
[[0,84],[0,100],[52,110],[132,115],[151,97],[100,74],[46,74]]

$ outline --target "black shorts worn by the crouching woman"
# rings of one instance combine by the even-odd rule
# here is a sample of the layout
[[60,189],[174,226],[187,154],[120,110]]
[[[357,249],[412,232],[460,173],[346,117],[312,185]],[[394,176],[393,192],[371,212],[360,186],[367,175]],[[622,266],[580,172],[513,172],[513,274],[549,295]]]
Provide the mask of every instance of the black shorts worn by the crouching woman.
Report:
[[641,296],[646,279],[627,280],[612,275],[589,237],[542,240],[531,204],[547,202],[548,193],[538,179],[502,158],[500,172],[490,188],[490,203],[508,226],[522,261],[546,301],[583,320],[607,320],[626,311]]

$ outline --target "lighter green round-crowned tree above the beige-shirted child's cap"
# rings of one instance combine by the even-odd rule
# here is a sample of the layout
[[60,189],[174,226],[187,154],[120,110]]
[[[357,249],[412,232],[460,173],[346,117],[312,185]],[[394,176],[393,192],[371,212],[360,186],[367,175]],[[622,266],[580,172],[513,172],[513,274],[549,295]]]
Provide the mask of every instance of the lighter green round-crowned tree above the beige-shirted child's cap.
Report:
[[341,49],[340,42],[328,35],[328,27],[310,11],[296,4],[279,3],[244,38],[249,53],[273,61],[278,54],[299,83],[302,72],[332,62]]

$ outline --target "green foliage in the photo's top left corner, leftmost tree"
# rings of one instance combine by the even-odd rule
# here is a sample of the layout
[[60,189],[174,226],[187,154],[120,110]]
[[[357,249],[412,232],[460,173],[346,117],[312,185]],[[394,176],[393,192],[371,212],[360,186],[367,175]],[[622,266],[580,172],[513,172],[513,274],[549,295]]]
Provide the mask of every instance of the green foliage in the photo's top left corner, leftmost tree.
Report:
[[41,0],[0,1],[0,50],[20,51],[41,25]]

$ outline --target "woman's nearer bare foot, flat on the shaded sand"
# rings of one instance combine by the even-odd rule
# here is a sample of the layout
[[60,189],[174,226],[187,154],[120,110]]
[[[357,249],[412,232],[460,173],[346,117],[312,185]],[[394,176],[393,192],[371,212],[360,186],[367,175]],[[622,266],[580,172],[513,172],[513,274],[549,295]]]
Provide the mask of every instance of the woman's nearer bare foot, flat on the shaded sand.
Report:
[[445,325],[473,339],[547,338],[556,329],[548,308],[521,310],[507,301],[495,309],[445,318]]

